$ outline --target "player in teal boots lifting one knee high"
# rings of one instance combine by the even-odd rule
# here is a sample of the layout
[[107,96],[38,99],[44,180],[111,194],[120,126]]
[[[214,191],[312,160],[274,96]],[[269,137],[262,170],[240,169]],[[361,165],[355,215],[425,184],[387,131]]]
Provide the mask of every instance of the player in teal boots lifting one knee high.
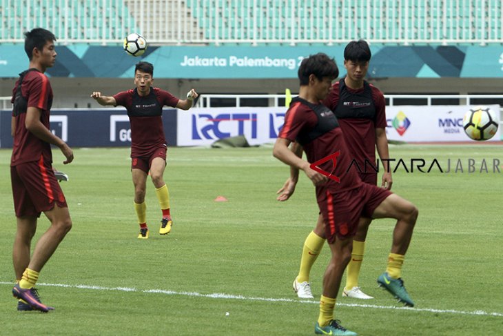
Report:
[[[274,144],[273,155],[294,169],[302,169],[316,186],[316,199],[325,221],[325,235],[331,259],[323,278],[320,314],[316,334],[356,335],[333,317],[333,308],[342,274],[351,259],[353,236],[360,217],[395,218],[393,243],[386,271],[378,277],[391,294],[408,306],[414,303],[400,277],[404,255],[409,248],[418,209],[411,202],[386,188],[365,184],[355,170],[348,170],[351,152],[333,112],[320,101],[332,89],[338,76],[335,61],[325,54],[311,55],[300,63],[299,95],[292,100],[285,123]],[[307,161],[289,150],[296,141],[306,152]],[[317,170],[311,164],[321,162]],[[334,166],[335,164],[335,166]],[[318,170],[325,171],[322,174]]]

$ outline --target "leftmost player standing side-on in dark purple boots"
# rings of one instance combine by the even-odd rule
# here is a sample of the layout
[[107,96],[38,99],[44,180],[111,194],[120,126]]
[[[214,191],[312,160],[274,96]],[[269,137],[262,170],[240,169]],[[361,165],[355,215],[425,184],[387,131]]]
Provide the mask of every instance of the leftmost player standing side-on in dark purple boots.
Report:
[[[21,72],[12,90],[12,136],[14,145],[10,161],[10,179],[17,231],[12,259],[17,284],[12,294],[19,299],[18,310],[54,308],[42,304],[35,289],[39,273],[72,228],[65,195],[54,176],[50,145],[57,146],[65,161],[73,161],[72,149],[49,128],[52,88],[47,68],[54,66],[56,37],[43,28],[25,33],[25,52],[30,59],[28,70]],[[37,219],[44,213],[50,227],[40,237],[30,258]]]

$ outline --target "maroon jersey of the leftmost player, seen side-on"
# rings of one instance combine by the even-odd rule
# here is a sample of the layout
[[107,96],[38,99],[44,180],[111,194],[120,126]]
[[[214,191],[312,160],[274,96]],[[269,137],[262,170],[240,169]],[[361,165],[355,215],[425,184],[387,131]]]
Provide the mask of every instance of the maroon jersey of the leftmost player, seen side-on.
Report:
[[[11,103],[14,103],[14,97],[17,91],[19,80],[12,90]],[[42,113],[40,121],[43,126],[49,128],[50,108],[52,105],[52,88],[47,76],[37,70],[28,72],[21,83],[21,95],[28,100],[28,107],[39,108]],[[14,115],[12,115],[14,117]],[[52,163],[52,152],[50,144],[36,137],[32,132],[26,129],[26,111],[21,111],[16,119],[16,128],[14,131],[14,144],[12,146],[12,157],[10,166],[17,166],[30,161],[43,161]]]

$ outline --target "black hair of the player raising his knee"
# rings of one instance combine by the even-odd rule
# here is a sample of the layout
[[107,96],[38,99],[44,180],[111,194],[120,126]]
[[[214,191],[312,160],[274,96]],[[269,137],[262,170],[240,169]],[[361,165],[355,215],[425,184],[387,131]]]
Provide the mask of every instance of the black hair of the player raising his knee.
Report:
[[309,75],[311,74],[320,80],[325,77],[336,79],[339,75],[339,68],[337,68],[334,59],[323,52],[318,52],[316,55],[309,55],[309,57],[302,59],[297,74],[300,85],[303,86],[309,83]]

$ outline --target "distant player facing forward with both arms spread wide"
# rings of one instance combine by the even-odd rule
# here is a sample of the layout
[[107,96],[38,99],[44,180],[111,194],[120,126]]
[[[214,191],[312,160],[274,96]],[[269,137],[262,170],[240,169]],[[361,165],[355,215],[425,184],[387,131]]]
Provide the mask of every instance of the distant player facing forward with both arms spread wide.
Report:
[[92,92],[91,97],[103,106],[124,106],[131,123],[131,172],[134,184],[134,209],[140,225],[138,239],[148,239],[149,230],[146,221],[145,190],[147,175],[150,171],[152,183],[161,206],[163,217],[159,233],[167,235],[173,225],[170,214],[170,193],[163,179],[166,168],[167,144],[163,130],[163,106],[172,106],[188,110],[192,107],[197,92],[187,92],[187,99],[178,99],[170,92],[154,88],[154,66],[148,62],[139,62],[134,68],[136,88],[119,92],[114,96],[103,96],[101,92]]

